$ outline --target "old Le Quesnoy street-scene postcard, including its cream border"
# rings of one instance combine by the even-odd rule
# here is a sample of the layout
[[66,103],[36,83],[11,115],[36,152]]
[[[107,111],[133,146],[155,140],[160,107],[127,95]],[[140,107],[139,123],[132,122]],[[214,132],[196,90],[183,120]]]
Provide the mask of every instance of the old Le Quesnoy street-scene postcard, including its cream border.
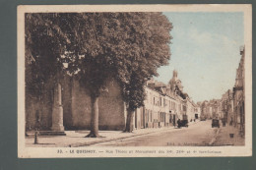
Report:
[[18,6],[18,156],[252,155],[252,7]]

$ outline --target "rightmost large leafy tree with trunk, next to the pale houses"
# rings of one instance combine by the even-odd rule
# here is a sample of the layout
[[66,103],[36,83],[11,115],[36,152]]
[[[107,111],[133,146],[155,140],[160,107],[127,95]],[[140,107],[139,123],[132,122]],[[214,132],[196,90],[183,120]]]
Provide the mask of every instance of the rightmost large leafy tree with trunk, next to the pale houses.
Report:
[[[139,23],[139,20],[135,28],[131,27],[133,28],[131,34],[135,40],[131,49],[133,54],[130,54],[132,57],[126,62],[126,67],[129,68],[124,76],[126,79],[117,78],[123,89],[123,99],[127,103],[127,122],[124,132],[133,131],[134,111],[144,106],[146,82],[153,76],[158,76],[158,68],[166,65],[170,57],[168,44],[172,25],[166,17],[161,13],[140,13],[139,16],[142,23]],[[137,16],[135,19],[138,19]],[[144,23],[145,21],[147,22]]]

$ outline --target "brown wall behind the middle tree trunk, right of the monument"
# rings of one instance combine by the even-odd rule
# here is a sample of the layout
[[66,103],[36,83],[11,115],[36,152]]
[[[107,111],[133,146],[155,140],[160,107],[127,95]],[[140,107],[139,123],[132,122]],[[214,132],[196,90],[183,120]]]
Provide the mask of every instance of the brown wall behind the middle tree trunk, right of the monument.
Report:
[[[100,95],[98,100],[99,130],[123,130],[125,127],[125,107],[120,88],[114,81],[107,83],[108,92]],[[73,81],[72,86],[72,119],[76,129],[90,129],[91,98],[87,91]],[[64,125],[65,126],[65,125]]]

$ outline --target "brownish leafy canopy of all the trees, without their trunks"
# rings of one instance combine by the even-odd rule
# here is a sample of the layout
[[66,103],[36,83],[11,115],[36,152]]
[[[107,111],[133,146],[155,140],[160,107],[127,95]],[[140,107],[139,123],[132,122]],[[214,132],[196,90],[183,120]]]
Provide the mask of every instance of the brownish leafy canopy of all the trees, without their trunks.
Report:
[[63,74],[66,63],[65,71],[91,95],[99,96],[115,79],[135,110],[143,105],[147,80],[169,60],[171,28],[161,13],[27,14],[28,82],[41,86]]

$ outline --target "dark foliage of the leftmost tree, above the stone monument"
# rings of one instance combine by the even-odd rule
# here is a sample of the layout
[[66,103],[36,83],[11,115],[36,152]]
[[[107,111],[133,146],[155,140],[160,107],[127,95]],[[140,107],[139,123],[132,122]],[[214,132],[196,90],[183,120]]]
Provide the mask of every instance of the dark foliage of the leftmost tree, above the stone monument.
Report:
[[[26,93],[40,98],[50,79],[59,80],[62,74],[61,55],[70,39],[62,28],[69,28],[61,19],[65,14],[26,14]],[[68,30],[66,29],[66,32]],[[59,73],[59,74],[58,74]],[[55,79],[57,78],[57,79]]]

